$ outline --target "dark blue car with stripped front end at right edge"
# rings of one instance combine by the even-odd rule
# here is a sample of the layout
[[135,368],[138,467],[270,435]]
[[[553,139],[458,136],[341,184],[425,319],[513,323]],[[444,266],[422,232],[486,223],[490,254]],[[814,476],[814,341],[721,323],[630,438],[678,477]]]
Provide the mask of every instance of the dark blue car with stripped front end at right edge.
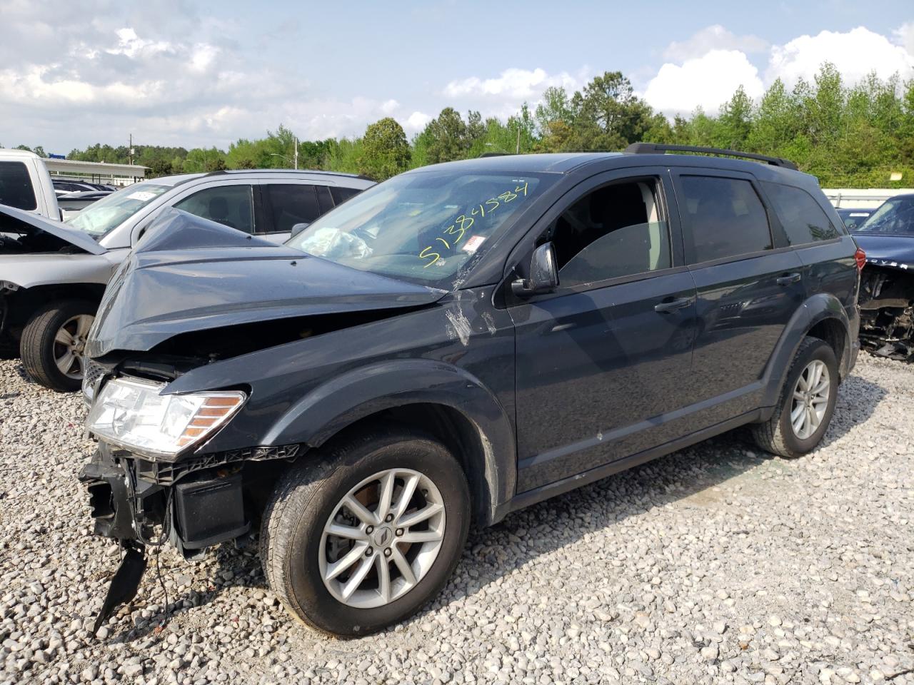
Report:
[[914,194],[888,198],[854,237],[866,250],[860,342],[879,356],[914,361]]

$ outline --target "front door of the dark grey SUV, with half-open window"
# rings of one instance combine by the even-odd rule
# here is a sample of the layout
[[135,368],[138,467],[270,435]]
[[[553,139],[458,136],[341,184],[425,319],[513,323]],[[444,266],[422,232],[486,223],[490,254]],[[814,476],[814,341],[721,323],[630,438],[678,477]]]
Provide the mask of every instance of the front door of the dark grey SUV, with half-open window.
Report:
[[518,492],[665,442],[689,383],[695,285],[676,248],[669,175],[581,185],[534,229],[556,248],[558,290],[508,310]]

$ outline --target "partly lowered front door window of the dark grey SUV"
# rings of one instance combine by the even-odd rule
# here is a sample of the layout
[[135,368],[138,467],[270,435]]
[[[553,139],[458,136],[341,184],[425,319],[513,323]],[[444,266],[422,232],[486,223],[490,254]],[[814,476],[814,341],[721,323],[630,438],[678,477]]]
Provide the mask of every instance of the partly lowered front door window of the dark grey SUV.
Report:
[[564,287],[670,267],[669,232],[654,179],[605,185],[584,195],[558,217],[548,239]]

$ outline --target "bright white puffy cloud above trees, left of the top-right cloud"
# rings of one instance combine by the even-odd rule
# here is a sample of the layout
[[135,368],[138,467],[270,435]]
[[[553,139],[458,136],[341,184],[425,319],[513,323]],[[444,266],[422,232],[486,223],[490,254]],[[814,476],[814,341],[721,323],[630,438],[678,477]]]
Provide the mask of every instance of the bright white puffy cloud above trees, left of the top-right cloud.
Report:
[[682,65],[664,64],[644,90],[644,100],[667,114],[687,113],[701,107],[717,111],[742,86],[750,98],[764,92],[749,58],[739,50],[711,50]]

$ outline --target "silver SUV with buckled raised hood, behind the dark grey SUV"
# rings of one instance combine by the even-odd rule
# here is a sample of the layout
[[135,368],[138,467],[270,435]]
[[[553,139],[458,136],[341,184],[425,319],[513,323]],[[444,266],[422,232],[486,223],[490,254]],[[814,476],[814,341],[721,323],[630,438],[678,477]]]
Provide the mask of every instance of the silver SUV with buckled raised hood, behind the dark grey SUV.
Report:
[[[0,225],[0,351],[19,353],[38,383],[78,390],[105,284],[163,210],[175,207],[280,243],[296,224],[372,184],[321,172],[182,174],[102,197],[66,224],[7,213]],[[58,202],[63,206],[64,197]]]

